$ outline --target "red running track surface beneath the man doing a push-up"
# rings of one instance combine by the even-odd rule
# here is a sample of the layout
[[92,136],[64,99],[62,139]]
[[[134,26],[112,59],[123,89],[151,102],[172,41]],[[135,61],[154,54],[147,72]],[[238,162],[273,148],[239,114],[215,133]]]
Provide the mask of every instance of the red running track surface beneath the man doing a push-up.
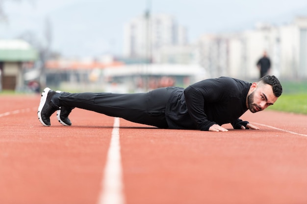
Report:
[[[0,96],[0,204],[98,204],[114,118],[37,119],[40,97]],[[126,204],[307,204],[307,115],[242,117],[260,130],[163,130],[120,119]]]

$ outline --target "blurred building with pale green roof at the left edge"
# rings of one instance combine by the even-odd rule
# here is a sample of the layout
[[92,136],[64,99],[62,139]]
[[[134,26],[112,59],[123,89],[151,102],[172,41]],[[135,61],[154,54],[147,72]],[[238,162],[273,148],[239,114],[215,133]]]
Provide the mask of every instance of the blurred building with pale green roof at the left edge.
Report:
[[23,40],[0,40],[0,90],[24,87],[24,72],[33,68],[38,52]]

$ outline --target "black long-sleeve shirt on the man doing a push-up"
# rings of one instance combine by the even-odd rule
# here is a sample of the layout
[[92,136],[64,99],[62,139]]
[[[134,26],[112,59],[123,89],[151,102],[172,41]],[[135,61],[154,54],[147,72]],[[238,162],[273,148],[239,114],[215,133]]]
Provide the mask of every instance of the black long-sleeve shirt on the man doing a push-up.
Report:
[[226,123],[238,128],[239,117],[248,110],[250,87],[251,83],[220,77],[175,89],[165,111],[169,128],[209,130],[213,124]]

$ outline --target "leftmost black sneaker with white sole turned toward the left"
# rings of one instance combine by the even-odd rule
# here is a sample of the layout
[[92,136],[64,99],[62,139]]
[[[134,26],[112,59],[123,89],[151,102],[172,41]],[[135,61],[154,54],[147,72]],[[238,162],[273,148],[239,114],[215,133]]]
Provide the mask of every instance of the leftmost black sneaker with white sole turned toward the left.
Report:
[[54,113],[56,110],[59,110],[59,107],[53,103],[51,100],[52,96],[56,94],[55,91],[52,91],[49,88],[45,88],[42,92],[41,101],[39,103],[37,116],[39,121],[44,126],[50,126],[50,116],[52,113]]

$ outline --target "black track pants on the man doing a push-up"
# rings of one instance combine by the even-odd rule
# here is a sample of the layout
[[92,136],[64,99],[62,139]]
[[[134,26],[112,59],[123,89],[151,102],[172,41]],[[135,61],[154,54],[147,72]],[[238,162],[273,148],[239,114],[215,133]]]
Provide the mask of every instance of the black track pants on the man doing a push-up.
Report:
[[131,122],[168,128],[165,107],[173,87],[147,93],[68,93],[63,92],[60,106],[76,107]]

